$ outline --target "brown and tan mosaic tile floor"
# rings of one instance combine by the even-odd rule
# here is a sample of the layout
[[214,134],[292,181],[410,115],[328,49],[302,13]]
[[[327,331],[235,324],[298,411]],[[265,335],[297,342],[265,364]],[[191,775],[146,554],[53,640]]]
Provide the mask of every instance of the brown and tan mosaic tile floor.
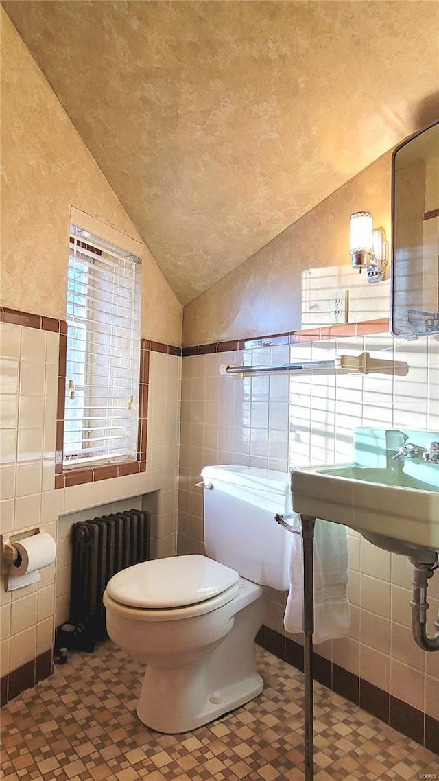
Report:
[[[110,640],[2,710],[6,781],[302,781],[303,676],[258,648],[256,700],[195,733],[152,732],[135,714],[141,667]],[[439,778],[439,758],[316,683],[315,779]]]

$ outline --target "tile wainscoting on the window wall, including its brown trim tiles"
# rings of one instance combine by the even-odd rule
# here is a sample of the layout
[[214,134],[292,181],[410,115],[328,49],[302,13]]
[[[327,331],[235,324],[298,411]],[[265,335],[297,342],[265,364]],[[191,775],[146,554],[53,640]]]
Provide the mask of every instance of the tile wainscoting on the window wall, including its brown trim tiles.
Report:
[[141,458],[62,473],[65,331],[61,320],[0,308],[0,533],[41,525],[58,550],[39,583],[8,592],[2,577],[2,702],[52,669],[54,627],[68,617],[70,590],[71,554],[60,518],[142,497],[151,504],[152,556],[177,551],[181,348],[142,340]]

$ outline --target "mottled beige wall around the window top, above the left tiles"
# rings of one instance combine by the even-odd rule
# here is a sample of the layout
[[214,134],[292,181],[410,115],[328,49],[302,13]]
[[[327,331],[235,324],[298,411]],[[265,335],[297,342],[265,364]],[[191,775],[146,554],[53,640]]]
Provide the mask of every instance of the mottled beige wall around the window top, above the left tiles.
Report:
[[[63,319],[70,205],[141,237],[9,17],[0,12],[1,303]],[[180,302],[146,247],[143,288],[142,337],[180,344]]]

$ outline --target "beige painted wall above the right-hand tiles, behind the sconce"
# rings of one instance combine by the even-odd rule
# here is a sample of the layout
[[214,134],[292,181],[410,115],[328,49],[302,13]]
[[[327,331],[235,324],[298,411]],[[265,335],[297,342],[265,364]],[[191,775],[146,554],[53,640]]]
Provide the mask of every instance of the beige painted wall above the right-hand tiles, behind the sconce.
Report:
[[329,323],[331,289],[349,291],[350,322],[387,316],[388,280],[368,285],[350,266],[349,216],[361,209],[390,236],[391,152],[185,306],[183,344]]

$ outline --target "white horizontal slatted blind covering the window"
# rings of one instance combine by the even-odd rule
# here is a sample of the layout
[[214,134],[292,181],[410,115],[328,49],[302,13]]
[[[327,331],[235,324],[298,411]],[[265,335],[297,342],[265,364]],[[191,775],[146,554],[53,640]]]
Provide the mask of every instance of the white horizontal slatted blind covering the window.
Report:
[[64,465],[136,458],[140,260],[70,225]]

